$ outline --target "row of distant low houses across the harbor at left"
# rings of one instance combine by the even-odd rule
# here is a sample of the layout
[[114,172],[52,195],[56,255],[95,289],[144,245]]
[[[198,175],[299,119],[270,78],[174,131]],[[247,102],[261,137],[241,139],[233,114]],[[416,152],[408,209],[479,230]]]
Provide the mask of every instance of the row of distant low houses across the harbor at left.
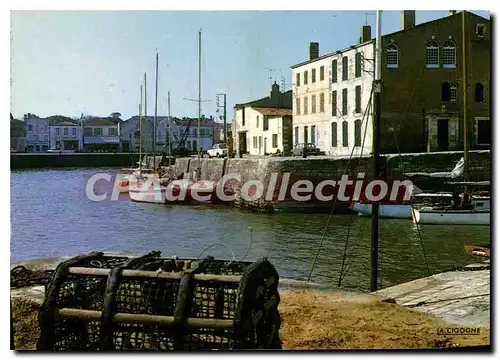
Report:
[[[153,151],[154,117],[142,118],[142,149]],[[220,142],[223,134],[221,123],[212,117],[200,121],[200,144],[198,144],[198,120],[172,118],[168,134],[168,117],[157,117],[157,152],[164,151],[169,139],[171,146],[182,146],[191,151],[198,147],[207,150]],[[113,123],[106,119],[90,119],[79,123],[62,121],[50,124],[46,118],[27,114],[23,120],[11,119],[11,150],[19,152],[46,152],[49,149],[73,151],[138,151],[139,117]]]

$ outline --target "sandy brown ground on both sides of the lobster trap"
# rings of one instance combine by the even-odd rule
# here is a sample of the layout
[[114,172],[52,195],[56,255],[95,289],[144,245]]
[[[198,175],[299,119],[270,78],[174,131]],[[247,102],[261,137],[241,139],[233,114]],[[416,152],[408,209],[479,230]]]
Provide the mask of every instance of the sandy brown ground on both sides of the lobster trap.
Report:
[[[490,344],[488,329],[480,335],[438,335],[449,327],[434,317],[371,297],[345,297],[316,290],[280,292],[284,349],[402,349]],[[36,348],[38,305],[13,299],[16,349]]]

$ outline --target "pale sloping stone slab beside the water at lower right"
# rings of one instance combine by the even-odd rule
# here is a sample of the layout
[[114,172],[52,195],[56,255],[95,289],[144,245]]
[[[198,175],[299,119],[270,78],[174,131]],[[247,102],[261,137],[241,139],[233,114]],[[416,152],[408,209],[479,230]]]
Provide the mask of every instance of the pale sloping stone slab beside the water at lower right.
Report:
[[371,293],[464,326],[490,327],[490,271],[451,271]]

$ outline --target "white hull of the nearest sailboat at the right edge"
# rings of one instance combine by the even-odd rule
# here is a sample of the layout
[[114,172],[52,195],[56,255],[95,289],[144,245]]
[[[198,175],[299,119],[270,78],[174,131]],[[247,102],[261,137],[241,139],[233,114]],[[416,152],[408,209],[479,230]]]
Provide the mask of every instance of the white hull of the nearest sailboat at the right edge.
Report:
[[418,224],[490,225],[489,211],[413,209]]

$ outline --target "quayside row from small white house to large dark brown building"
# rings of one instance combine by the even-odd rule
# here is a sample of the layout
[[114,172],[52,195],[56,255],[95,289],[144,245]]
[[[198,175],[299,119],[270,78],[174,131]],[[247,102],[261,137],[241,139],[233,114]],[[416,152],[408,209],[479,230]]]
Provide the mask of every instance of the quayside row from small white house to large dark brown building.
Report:
[[[491,145],[490,21],[465,12],[466,116],[469,148]],[[381,151],[409,153],[463,149],[464,82],[462,15],[422,24],[415,11],[401,12],[401,30],[381,42]],[[233,141],[240,153],[289,152],[314,143],[329,155],[370,154],[375,40],[361,27],[352,46],[291,66],[293,88],[238,104]]]

